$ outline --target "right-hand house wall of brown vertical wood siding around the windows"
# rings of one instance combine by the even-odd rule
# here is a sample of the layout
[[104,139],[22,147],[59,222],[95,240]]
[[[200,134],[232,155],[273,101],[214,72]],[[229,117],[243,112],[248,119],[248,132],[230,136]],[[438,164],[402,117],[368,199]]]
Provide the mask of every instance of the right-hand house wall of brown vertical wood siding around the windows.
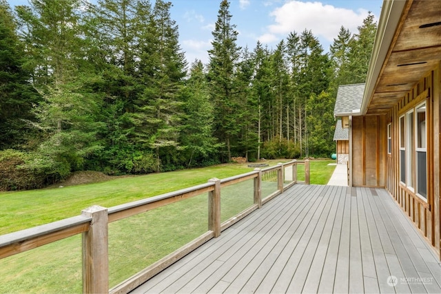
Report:
[[[403,165],[400,161],[400,152],[403,142],[400,141],[400,118],[416,113],[418,105],[425,103],[426,120],[424,129],[427,134],[427,199],[418,195],[418,158],[408,160]],[[418,122],[418,121],[417,121]],[[386,189],[398,202],[407,216],[435,247],[440,254],[440,66],[431,71],[427,76],[413,87],[404,96],[387,116],[387,125],[391,125],[391,152],[387,153]],[[387,132],[387,125],[385,127]],[[401,127],[402,128],[402,127]],[[405,128],[404,128],[405,129]],[[409,129],[411,129],[409,127]],[[418,132],[418,126],[411,132]],[[408,134],[408,131],[406,131]],[[412,133],[413,134],[413,133]],[[416,136],[416,135],[415,135]],[[403,136],[405,137],[405,136]],[[411,136],[409,136],[411,137]],[[418,147],[418,146],[417,146]],[[407,148],[407,146],[406,146]],[[415,153],[415,152],[414,152]],[[401,156],[402,156],[401,154]],[[409,162],[411,165],[409,165]],[[402,169],[409,165],[409,172]],[[404,171],[404,172],[403,172]],[[406,178],[406,173],[409,174]],[[402,176],[404,174],[404,176]],[[404,180],[404,182],[403,182]],[[411,182],[409,184],[408,182]]]

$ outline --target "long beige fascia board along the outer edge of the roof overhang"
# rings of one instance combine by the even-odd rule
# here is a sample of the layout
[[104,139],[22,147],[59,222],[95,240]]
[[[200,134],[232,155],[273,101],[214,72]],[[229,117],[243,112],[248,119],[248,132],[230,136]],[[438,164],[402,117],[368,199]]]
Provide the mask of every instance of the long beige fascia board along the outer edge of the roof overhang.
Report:
[[361,115],[367,114],[367,107],[371,101],[373,90],[376,87],[382,65],[389,52],[393,36],[395,35],[402,11],[407,1],[384,0],[378,21],[378,29],[373,43],[369,70],[367,71],[365,92],[361,104]]

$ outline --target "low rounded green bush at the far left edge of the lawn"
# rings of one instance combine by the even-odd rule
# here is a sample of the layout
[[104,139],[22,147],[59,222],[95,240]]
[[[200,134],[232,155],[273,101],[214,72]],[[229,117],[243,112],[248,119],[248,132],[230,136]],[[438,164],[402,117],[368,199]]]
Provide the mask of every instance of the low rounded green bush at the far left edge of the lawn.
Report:
[[30,152],[0,151],[0,191],[37,189],[67,178],[70,166]]

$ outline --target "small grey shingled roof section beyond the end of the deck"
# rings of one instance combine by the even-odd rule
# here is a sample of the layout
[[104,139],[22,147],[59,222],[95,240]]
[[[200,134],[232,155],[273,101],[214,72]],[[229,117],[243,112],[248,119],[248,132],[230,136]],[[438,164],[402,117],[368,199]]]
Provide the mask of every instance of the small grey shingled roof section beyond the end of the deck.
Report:
[[334,116],[358,114],[364,92],[365,83],[338,86]]

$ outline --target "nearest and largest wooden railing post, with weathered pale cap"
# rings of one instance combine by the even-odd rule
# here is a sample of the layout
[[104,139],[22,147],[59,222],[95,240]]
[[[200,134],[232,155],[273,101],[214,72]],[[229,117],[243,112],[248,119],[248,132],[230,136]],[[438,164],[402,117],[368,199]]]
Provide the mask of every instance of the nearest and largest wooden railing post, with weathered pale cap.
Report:
[[107,208],[94,205],[81,214],[92,218],[83,232],[83,293],[109,293]]

